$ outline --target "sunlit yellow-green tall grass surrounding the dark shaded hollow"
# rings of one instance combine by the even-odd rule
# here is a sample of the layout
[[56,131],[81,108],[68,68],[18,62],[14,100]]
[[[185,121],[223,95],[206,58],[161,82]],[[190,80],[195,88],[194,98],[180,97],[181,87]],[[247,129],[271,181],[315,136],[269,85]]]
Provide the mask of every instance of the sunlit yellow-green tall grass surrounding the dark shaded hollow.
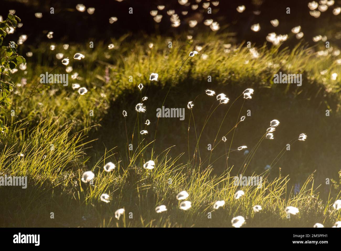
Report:
[[[206,41],[210,41],[210,38]],[[330,227],[341,219],[340,210],[332,208],[332,203],[340,198],[340,193],[323,203],[316,191],[318,185],[314,184],[313,174],[298,193],[293,192],[288,185],[288,176],[282,177],[279,173],[276,178],[270,178],[269,171],[252,173],[252,176],[263,176],[260,187],[240,188],[234,184],[235,169],[239,168],[238,173],[247,175],[246,168],[251,159],[257,157],[256,151],[264,140],[264,136],[260,135],[259,142],[251,149],[241,167],[228,165],[230,154],[243,145],[242,142],[233,141],[236,127],[243,123],[239,120],[243,115],[245,100],[239,107],[238,102],[235,102],[242,95],[237,96],[235,101],[231,101],[235,97],[230,97],[228,104],[219,104],[216,97],[210,97],[214,102],[209,100],[208,105],[205,105],[207,109],[202,111],[205,120],[200,120],[200,123],[190,111],[188,138],[183,139],[187,141],[188,148],[183,149],[183,152],[188,150],[186,163],[183,162],[185,154],[174,155],[173,147],[165,150],[153,147],[154,141],[158,140],[156,131],[158,135],[162,134],[164,128],[157,127],[158,122],[155,131],[152,127],[145,127],[143,123],[148,117],[134,111],[136,103],[141,101],[142,93],[135,97],[136,103],[127,100],[125,108],[128,118],[132,117],[135,124],[128,124],[127,127],[128,120],[120,113],[116,123],[123,123],[124,120],[125,129],[118,131],[120,127],[116,123],[110,125],[112,133],[124,135],[127,142],[117,142],[118,148],[107,149],[104,146],[104,152],[97,149],[87,151],[94,143],[94,139],[88,139],[88,134],[106,137],[101,135],[102,120],[110,112],[112,102],[124,93],[136,90],[139,83],[149,82],[147,89],[151,85],[168,89],[166,97],[172,94],[169,90],[178,81],[199,78],[207,81],[208,75],[219,80],[220,84],[226,81],[232,85],[248,82],[249,87],[276,88],[270,77],[279,70],[291,68],[305,74],[311,85],[322,85],[329,88],[330,92],[337,92],[339,86],[328,78],[322,78],[319,73],[321,69],[328,69],[328,74],[340,70],[331,57],[316,57],[311,53],[312,48],[298,45],[291,51],[263,46],[257,49],[260,57],[252,59],[248,48],[240,45],[227,53],[223,43],[217,40],[203,45],[200,54],[210,55],[206,60],[200,54],[188,60],[187,55],[193,51],[195,41],[179,40],[179,43],[173,43],[177,46],[172,50],[164,45],[162,38],[154,41],[151,49],[145,43],[123,46],[120,44],[123,41],[113,42],[118,49],[110,51],[110,54],[104,45],[92,51],[71,45],[69,51],[64,52],[64,57],[70,58],[75,52],[86,55],[86,60],[72,65],[73,72],[78,72],[81,77],[74,83],[81,82],[81,86],[89,89],[85,96],[79,96],[70,85],[63,88],[58,84],[39,84],[39,75],[55,68],[45,62],[55,62],[58,71],[64,71],[65,67],[54,59],[54,54],[63,50],[62,45],[57,45],[55,51],[47,50],[49,46],[46,44],[38,49],[22,47],[22,50],[33,51],[36,62],[33,64],[34,60],[30,62],[28,59],[27,74],[19,72],[16,75],[17,82],[27,78],[28,83],[11,96],[12,107],[4,108],[19,112],[16,112],[16,117],[1,118],[9,130],[0,134],[0,173],[28,176],[29,183],[27,189],[0,187],[1,199],[6,201],[1,204],[0,210],[2,215],[8,216],[1,226],[230,227],[231,219],[242,215],[246,219],[245,226],[250,227],[312,227],[316,222]],[[246,60],[249,60],[248,64]],[[110,69],[109,81],[105,79],[105,67]],[[148,81],[151,72],[159,73],[158,82]],[[133,82],[129,82],[129,76],[133,76]],[[205,89],[202,91],[203,96],[193,100],[193,109],[196,109],[197,103],[206,102]],[[152,101],[153,96],[149,93],[148,96],[149,101]],[[214,134],[216,137],[212,151],[206,155],[200,154],[198,146],[202,135],[205,135],[205,128],[213,114],[219,115],[215,112],[221,107],[225,115],[220,116],[221,122],[214,125],[217,132]],[[239,111],[238,117],[228,117],[230,108]],[[95,116],[89,115],[90,110]],[[147,109],[146,114],[148,112]],[[154,114],[154,111],[150,114]],[[231,128],[223,127],[226,118],[233,121]],[[155,133],[154,139],[149,140],[140,135],[139,131],[143,128],[148,128],[149,134]],[[195,137],[190,134],[192,131]],[[225,154],[220,156],[226,158],[226,170],[216,175],[212,163],[220,157],[213,152],[217,145],[222,145],[220,136],[227,135],[232,136],[227,142],[229,144],[225,144]],[[130,143],[134,143],[133,151],[128,148]],[[122,146],[124,150],[121,150]],[[93,155],[88,156],[89,152]],[[20,153],[24,156],[20,156]],[[273,156],[274,161],[282,153]],[[149,159],[155,162],[152,170],[143,168]],[[107,173],[103,166],[109,161],[116,164],[116,169]],[[81,182],[81,176],[87,170],[95,174],[93,183]],[[245,195],[235,199],[234,194],[240,189]],[[192,202],[192,207],[188,211],[179,209],[179,201],[175,197],[182,190],[190,195],[188,200]],[[100,201],[103,193],[109,194],[110,203]],[[213,203],[217,200],[224,200],[225,205],[213,210]],[[157,214],[155,207],[159,205],[166,205],[168,210]],[[263,210],[254,213],[252,207],[255,205],[261,205]],[[284,212],[287,206],[299,208],[300,213],[287,219]],[[125,213],[117,220],[114,213],[119,208],[124,208]],[[50,218],[51,212],[54,213],[53,219]],[[209,212],[211,218],[208,217]]]

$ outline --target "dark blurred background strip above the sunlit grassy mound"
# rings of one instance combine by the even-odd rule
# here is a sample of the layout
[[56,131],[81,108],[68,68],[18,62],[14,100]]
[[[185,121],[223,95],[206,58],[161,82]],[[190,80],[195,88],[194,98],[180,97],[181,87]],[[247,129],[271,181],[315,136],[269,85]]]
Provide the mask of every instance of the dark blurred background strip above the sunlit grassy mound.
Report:
[[[204,2],[210,2],[212,14],[207,13],[207,9],[202,7]],[[231,32],[235,35],[236,42],[251,41],[256,44],[263,44],[265,37],[270,32],[277,34],[290,34],[291,29],[300,25],[304,33],[303,42],[310,45],[315,44],[312,37],[321,34],[327,35],[328,41],[340,45],[340,40],[335,39],[335,34],[340,32],[341,14],[335,16],[332,10],[341,6],[341,1],[335,1],[327,11],[321,12],[319,18],[309,14],[308,0],[253,0],[253,1],[219,1],[218,6],[213,6],[212,1],[202,0],[196,3],[189,0],[188,3],[198,4],[196,10],[191,9],[191,5],[180,5],[177,0],[2,0],[0,15],[5,17],[8,10],[16,10],[16,15],[22,19],[23,27],[17,30],[16,36],[27,34],[26,43],[39,43],[47,41],[46,32],[54,31],[55,41],[82,42],[89,38],[96,40],[109,40],[117,38],[126,33],[131,33],[133,38],[142,35],[161,34],[172,36],[181,32],[195,35],[198,32],[212,32],[205,26],[205,19],[213,19],[220,24],[220,30],[216,33]],[[317,1],[318,2],[318,1]],[[77,4],[84,4],[86,8],[93,7],[95,12],[90,15],[76,10]],[[165,5],[165,9],[160,11],[158,5]],[[237,6],[245,5],[246,10],[242,13],[236,11]],[[54,7],[55,14],[50,14],[50,8]],[[129,14],[129,8],[133,8],[133,14]],[[291,13],[286,14],[286,8],[290,7]],[[155,23],[150,15],[151,10],[158,10],[163,18],[160,23]],[[170,16],[167,10],[175,10],[179,15],[181,25],[177,28],[171,27]],[[188,11],[186,16],[181,11]],[[260,11],[259,15],[254,11]],[[43,13],[42,18],[34,17],[34,13]],[[118,21],[109,24],[109,18],[115,16]],[[270,20],[278,19],[279,26],[273,27]],[[188,21],[197,20],[198,24],[194,28],[189,28]],[[261,30],[253,32],[250,27],[259,23]],[[288,39],[285,46],[292,46],[297,43],[297,39]]]

